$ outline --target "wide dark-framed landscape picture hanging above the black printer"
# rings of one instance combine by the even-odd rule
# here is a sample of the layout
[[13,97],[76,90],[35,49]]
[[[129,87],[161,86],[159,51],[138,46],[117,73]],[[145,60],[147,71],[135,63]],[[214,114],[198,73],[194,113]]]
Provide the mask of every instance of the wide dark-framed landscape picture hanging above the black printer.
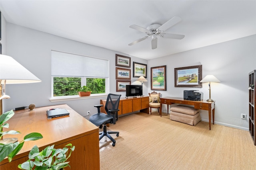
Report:
[[202,65],[174,68],[175,87],[202,87]]

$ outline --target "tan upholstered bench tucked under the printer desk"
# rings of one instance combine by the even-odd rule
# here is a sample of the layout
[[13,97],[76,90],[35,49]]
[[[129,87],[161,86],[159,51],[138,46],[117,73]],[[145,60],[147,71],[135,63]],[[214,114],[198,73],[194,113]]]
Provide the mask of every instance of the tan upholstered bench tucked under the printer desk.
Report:
[[175,106],[170,108],[170,119],[187,123],[189,125],[196,125],[201,121],[200,110],[188,106]]

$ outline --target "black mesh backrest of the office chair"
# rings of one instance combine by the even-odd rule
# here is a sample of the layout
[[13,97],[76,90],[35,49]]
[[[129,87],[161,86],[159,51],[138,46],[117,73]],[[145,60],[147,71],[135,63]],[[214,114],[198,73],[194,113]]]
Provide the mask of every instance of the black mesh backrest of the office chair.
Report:
[[108,94],[105,105],[105,110],[108,113],[108,115],[110,115],[108,110],[118,109],[120,97],[121,95],[119,94]]

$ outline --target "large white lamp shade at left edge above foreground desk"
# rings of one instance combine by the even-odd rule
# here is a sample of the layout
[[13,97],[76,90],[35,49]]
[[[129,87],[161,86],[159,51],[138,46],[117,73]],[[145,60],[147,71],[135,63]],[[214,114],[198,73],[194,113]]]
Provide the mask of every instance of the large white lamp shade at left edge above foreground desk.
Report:
[[0,55],[0,80],[6,80],[6,84],[41,82],[24,66],[7,55]]

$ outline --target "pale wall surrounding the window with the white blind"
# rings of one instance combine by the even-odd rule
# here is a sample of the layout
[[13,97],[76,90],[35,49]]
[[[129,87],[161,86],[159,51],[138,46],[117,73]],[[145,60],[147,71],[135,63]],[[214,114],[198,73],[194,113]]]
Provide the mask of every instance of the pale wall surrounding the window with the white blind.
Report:
[[[131,57],[131,69],[133,67],[133,61],[147,64],[147,60],[140,59],[138,57],[132,57],[116,51],[72,41],[70,39],[14,25],[12,23],[7,23],[6,28],[6,55],[13,57],[16,61],[42,80],[42,82],[30,84],[7,84],[6,94],[11,96],[11,98],[3,101],[4,112],[10,109],[15,109],[15,107],[29,106],[29,104],[32,103],[34,103],[36,107],[68,104],[83,116],[87,115],[86,111],[88,110],[90,110],[92,114],[97,112],[94,105],[100,104],[100,99],[102,98],[72,100],[67,102],[49,101],[51,97],[51,50],[110,60],[110,93],[122,94],[122,97],[125,97],[125,92],[116,92],[115,54]],[[132,84],[139,83],[136,82],[136,79],[138,78],[132,78]],[[146,83],[144,86],[144,95],[146,95]],[[103,99],[106,99],[106,97]],[[88,117],[86,118],[88,119]]]

